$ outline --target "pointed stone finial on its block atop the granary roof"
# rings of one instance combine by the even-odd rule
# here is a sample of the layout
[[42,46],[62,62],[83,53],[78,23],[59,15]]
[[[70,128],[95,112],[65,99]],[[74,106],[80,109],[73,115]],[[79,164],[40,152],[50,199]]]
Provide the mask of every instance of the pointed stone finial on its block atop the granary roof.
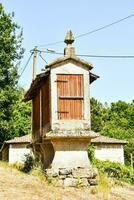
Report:
[[75,56],[75,49],[72,47],[74,42],[74,36],[71,30],[67,31],[64,42],[67,44],[67,47],[64,49],[65,56]]

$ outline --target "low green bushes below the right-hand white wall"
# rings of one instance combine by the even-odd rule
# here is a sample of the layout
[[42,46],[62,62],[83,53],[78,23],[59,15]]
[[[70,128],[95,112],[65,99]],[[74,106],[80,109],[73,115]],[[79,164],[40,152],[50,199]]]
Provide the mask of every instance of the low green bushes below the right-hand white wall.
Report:
[[134,171],[130,167],[120,163],[99,160],[94,160],[93,164],[100,172],[106,173],[108,177],[134,184]]

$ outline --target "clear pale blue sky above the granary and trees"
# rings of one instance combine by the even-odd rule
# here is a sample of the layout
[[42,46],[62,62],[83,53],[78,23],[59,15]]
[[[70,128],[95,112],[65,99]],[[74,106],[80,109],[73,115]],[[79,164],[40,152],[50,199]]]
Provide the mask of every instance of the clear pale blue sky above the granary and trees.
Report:
[[[134,13],[133,0],[2,0],[6,12],[15,12],[15,21],[23,28],[24,58],[23,69],[30,56],[30,50],[39,45],[40,49],[55,49],[63,52],[64,43],[40,47],[51,42],[64,40],[71,29],[74,36],[94,30]],[[81,37],[74,42],[77,54],[134,55],[134,17],[107,29]],[[55,55],[42,54],[49,62]],[[91,96],[101,102],[134,99],[134,58],[84,58],[94,65],[92,72],[100,76],[91,85]],[[38,58],[38,72],[45,65]],[[19,80],[29,87],[32,76],[32,60]]]

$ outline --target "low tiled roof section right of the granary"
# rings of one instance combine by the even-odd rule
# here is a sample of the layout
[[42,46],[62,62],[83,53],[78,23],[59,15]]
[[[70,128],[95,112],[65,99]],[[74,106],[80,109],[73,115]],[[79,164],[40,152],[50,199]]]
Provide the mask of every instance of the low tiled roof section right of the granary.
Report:
[[116,138],[110,138],[100,135],[99,137],[92,139],[91,143],[127,144],[128,142],[125,140],[119,140]]

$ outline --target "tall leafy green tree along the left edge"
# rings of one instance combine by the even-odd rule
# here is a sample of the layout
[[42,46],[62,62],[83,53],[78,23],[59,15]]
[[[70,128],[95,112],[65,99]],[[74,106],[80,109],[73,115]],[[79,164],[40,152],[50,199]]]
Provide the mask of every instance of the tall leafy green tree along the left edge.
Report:
[[17,100],[18,65],[23,56],[22,33],[0,4],[0,144],[9,139],[14,104]]

